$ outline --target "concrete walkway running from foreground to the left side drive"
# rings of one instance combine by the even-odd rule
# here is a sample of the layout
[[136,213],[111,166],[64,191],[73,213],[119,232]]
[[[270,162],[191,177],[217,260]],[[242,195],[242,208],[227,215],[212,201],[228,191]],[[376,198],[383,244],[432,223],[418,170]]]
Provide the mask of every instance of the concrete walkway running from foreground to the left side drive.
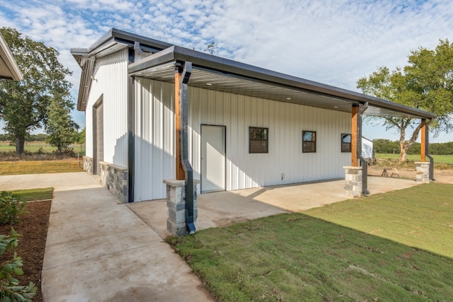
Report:
[[53,301],[213,301],[192,269],[86,173],[0,176],[0,190],[54,187],[42,296]]

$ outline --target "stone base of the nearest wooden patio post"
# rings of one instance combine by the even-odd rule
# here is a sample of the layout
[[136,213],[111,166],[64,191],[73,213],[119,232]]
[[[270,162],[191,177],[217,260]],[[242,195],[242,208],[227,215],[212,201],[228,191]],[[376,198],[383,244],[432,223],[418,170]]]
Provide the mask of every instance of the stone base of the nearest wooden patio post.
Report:
[[[193,180],[193,220],[197,221],[197,183]],[[173,236],[188,234],[185,226],[185,180],[164,180],[167,186],[167,230]]]

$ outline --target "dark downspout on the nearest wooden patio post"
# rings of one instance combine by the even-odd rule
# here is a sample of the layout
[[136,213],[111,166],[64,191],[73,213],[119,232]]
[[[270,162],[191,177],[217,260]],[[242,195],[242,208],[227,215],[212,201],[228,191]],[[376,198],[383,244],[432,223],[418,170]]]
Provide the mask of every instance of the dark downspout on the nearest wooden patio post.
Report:
[[[192,62],[185,62],[180,78],[180,112],[181,112],[181,163],[185,172],[185,226],[188,233],[197,231],[193,213],[193,168],[189,162],[188,148],[188,82],[192,74]],[[195,193],[196,194],[196,193]]]

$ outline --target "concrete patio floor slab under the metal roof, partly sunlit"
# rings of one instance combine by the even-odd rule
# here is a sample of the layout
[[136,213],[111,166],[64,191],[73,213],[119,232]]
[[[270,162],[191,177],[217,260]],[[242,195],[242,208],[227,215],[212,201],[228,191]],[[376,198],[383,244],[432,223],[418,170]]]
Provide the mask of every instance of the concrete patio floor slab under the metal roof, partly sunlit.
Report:
[[[369,177],[372,194],[402,190],[421,182],[397,178]],[[197,197],[197,230],[228,226],[265,216],[304,211],[326,204],[342,202],[345,180],[304,182],[294,185],[276,185],[236,191],[200,194]],[[127,204],[144,223],[161,238],[171,236],[167,231],[166,199]]]

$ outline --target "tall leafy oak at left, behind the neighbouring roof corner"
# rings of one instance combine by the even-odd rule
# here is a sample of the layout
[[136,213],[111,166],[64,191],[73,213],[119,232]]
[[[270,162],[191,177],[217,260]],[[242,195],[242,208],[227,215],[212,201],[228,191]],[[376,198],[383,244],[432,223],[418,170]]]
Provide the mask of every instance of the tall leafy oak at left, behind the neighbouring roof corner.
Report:
[[0,118],[5,132],[16,141],[16,155],[21,156],[28,133],[47,124],[52,100],[69,100],[71,83],[66,77],[71,71],[58,62],[55,48],[14,28],[0,28],[0,33],[23,74],[23,81],[0,81]]

